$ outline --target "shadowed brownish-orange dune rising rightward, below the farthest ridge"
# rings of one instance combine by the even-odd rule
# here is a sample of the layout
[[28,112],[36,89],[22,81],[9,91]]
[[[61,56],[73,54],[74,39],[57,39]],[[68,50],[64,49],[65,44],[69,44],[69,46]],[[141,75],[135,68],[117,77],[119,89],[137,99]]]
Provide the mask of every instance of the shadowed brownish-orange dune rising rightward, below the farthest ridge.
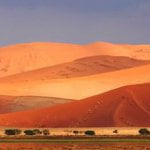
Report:
[[80,58],[69,63],[28,71],[5,78],[3,77],[0,79],[0,82],[31,82],[34,80],[72,78],[116,71],[145,64],[150,64],[150,60],[137,60],[125,56],[99,55]]

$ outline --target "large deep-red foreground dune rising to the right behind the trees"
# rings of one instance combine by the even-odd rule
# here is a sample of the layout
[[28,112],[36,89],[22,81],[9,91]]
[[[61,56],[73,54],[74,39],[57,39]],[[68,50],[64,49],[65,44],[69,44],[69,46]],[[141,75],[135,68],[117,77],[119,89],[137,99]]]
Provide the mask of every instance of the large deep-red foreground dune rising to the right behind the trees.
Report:
[[0,126],[150,126],[149,91],[150,83],[132,85],[51,108],[4,114],[0,115]]

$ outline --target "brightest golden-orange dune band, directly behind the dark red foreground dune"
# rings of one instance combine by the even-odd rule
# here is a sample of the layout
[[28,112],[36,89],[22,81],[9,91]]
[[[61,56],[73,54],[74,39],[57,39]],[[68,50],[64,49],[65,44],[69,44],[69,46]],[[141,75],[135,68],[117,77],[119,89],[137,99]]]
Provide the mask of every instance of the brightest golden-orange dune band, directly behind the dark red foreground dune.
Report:
[[[41,72],[42,74],[42,72]],[[150,65],[69,79],[0,82],[0,95],[32,95],[82,99],[121,86],[150,82]]]

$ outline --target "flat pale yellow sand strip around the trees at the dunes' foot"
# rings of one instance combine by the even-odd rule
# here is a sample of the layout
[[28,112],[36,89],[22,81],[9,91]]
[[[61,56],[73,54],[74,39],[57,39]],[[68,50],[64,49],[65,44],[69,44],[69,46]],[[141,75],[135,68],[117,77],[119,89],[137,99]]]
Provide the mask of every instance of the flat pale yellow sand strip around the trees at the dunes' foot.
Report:
[[[75,135],[73,131],[80,131],[78,135],[85,135],[84,132],[87,130],[95,131],[96,135],[139,135],[139,129],[144,127],[102,127],[102,128],[36,128],[39,130],[48,129],[50,135],[59,136],[59,135]],[[0,128],[0,135],[3,136],[6,128]],[[8,128],[7,128],[8,129]],[[10,128],[16,129],[16,128]],[[35,128],[19,128],[22,131]],[[150,127],[147,128],[150,130]],[[113,133],[114,130],[117,130],[118,133]],[[24,134],[24,133],[22,133]]]

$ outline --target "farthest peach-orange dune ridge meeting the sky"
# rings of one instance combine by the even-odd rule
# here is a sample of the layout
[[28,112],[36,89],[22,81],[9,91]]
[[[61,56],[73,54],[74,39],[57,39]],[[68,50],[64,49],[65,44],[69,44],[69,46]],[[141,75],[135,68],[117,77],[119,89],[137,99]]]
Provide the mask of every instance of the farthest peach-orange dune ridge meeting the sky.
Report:
[[78,58],[112,55],[150,59],[150,45],[93,43],[27,43],[0,48],[0,77],[48,67]]

